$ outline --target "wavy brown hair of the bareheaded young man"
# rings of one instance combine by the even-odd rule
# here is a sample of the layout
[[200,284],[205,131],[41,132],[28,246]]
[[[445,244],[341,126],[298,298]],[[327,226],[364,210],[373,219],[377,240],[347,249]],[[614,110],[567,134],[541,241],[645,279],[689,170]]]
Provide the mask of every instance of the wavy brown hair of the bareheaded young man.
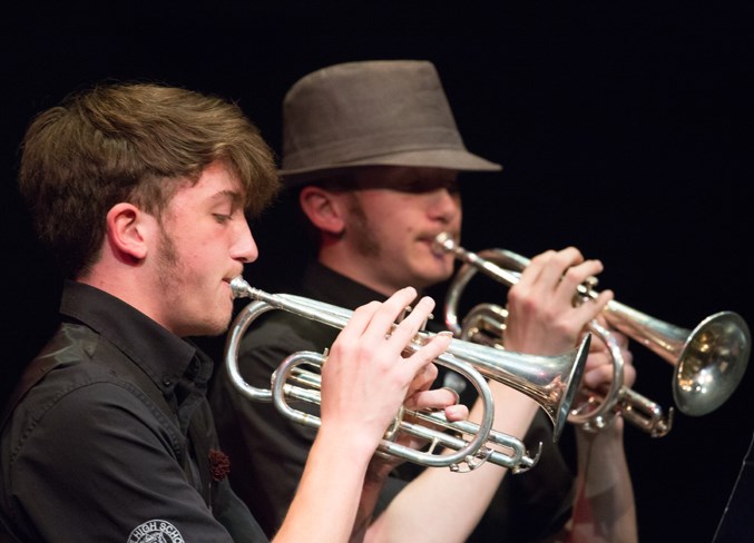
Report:
[[216,160],[241,180],[251,216],[276,195],[273,154],[237,105],[156,83],[100,85],[32,120],[19,190],[40,240],[76,277],[97,260],[114,205],[159,217],[180,184]]

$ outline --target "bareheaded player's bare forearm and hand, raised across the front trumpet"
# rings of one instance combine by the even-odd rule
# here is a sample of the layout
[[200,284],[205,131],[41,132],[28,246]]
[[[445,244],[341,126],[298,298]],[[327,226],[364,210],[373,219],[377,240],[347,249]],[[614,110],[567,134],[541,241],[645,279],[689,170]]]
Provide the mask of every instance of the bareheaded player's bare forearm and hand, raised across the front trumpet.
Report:
[[[408,398],[419,408],[452,405],[454,398],[447,391],[439,397],[428,391],[437,377],[431,362],[448,347],[450,335],[438,334],[410,356],[403,355],[434,307],[431,298],[422,297],[394,324],[415,296],[415,289],[407,287],[382,304],[356,308],[332,345],[322,365],[322,424],[275,541],[349,541],[369,463],[400,406]],[[343,452],[347,458],[339,462]],[[370,490],[364,504],[373,505]],[[360,512],[360,531],[366,514]]]

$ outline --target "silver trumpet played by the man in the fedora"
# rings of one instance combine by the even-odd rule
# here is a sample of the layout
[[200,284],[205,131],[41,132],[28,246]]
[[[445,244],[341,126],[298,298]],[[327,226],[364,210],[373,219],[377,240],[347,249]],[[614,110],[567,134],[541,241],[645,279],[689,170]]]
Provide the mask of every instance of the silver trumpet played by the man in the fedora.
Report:
[[[457,337],[501,346],[506,309],[494,304],[480,304],[459,325],[458,302],[478,270],[510,287],[518,283],[520,272],[530,260],[505,249],[470,253],[447,233],[435,238],[434,249],[438,253],[451,253],[463,263],[453,277],[445,299],[448,327]],[[575,303],[597,297],[593,288],[595,284],[593,279],[579,285]],[[678,409],[686,415],[702,416],[715,411],[733,394],[746,371],[751,333],[736,313],[711,315],[693,330],[658,320],[616,300],[608,302],[603,315],[610,327],[637,340],[675,367],[673,397]],[[673,425],[673,408],[665,416],[659,405],[625,387],[623,355],[613,334],[597,320],[590,323],[589,330],[607,345],[613,358],[614,379],[606,396],[589,395],[584,405],[571,412],[569,422],[598,431],[620,413],[653,437],[667,434]]]

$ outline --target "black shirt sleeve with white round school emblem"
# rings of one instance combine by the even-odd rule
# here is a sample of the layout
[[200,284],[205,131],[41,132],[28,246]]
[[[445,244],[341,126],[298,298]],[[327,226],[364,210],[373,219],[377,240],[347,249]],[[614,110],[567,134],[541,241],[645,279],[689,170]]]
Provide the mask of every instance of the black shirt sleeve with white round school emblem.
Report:
[[[155,413],[134,393],[96,382],[19,432],[10,492],[33,541],[233,540],[186,481]],[[21,426],[21,425],[20,425]]]

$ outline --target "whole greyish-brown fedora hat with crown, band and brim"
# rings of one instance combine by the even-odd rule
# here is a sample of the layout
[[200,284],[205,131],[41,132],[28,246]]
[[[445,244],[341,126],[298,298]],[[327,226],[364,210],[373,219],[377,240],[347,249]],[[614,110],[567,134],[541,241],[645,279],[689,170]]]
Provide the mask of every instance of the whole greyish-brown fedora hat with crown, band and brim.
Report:
[[434,66],[423,60],[345,62],[304,76],[283,100],[286,185],[362,166],[494,171],[469,152]]

